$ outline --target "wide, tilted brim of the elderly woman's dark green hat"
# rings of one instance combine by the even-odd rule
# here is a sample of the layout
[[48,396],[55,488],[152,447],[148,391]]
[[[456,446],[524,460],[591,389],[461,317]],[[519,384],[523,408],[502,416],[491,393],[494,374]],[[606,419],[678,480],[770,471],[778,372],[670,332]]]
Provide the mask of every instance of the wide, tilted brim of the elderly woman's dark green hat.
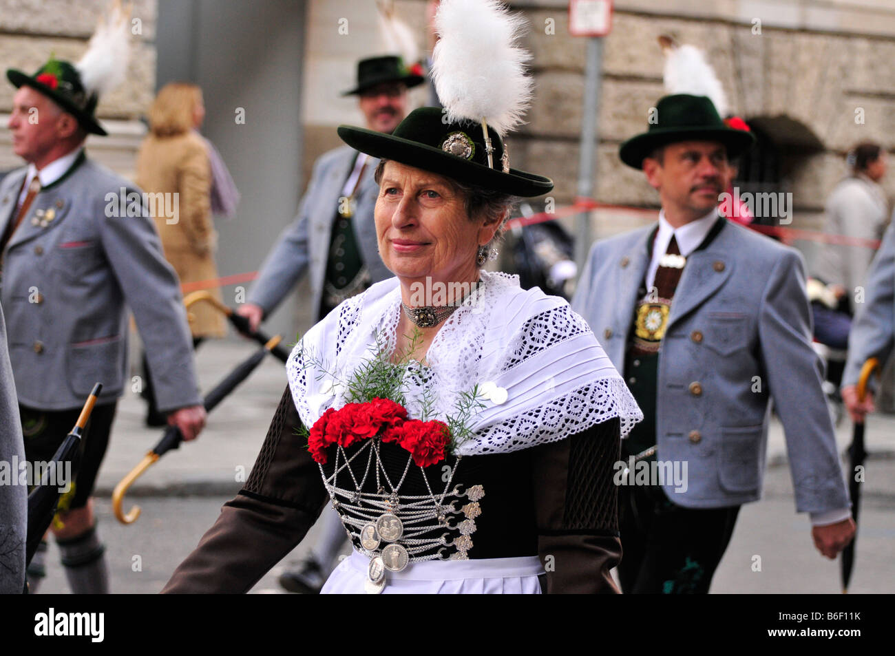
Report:
[[[504,173],[501,169],[482,166],[444,150],[384,132],[365,130],[351,125],[339,125],[337,132],[342,141],[371,157],[391,159],[423,171],[444,175],[457,182],[474,184],[523,198],[541,196],[553,189],[553,181],[550,178],[515,168],[510,168],[509,173]],[[500,163],[497,162],[497,165],[500,166]]]

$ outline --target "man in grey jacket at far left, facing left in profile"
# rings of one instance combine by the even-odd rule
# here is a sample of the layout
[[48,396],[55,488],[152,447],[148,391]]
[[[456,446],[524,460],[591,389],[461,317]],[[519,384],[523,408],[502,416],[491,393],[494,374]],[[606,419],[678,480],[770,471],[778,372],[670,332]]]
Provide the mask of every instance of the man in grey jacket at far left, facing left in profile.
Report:
[[[184,439],[205,423],[192,339],[140,192],[85,155],[87,134],[106,134],[94,117],[98,92],[85,86],[77,65],[61,60],[33,75],[6,75],[18,89],[9,118],[13,150],[29,165],[0,184],[0,297],[25,455],[49,461],[94,383],[103,384],[80,468],[60,501],[63,525],[53,532],[72,591],[107,592],[90,492],[129,381],[127,308],[146,345],[158,408]],[[32,592],[45,550],[31,561]]]

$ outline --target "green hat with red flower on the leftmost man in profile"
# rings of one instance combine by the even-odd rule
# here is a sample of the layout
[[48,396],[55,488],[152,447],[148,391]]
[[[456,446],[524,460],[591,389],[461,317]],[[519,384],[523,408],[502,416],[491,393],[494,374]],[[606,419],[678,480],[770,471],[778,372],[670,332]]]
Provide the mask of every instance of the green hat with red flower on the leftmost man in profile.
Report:
[[94,115],[99,98],[97,94],[84,89],[81,73],[72,64],[51,57],[33,75],[10,68],[6,70],[6,77],[16,89],[26,85],[53,100],[78,119],[78,123],[87,132],[107,135]]

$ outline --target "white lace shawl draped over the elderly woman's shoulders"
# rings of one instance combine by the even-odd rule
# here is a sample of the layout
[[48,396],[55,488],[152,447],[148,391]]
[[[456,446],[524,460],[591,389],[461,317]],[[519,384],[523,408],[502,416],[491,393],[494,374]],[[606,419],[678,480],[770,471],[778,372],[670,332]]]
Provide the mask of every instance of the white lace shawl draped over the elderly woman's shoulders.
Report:
[[[501,412],[499,407],[487,408],[478,417],[473,417],[470,423],[475,439],[461,444],[457,453],[469,456],[516,451],[565,439],[613,417],[619,418],[624,437],[636,422],[643,419],[634,397],[618,372],[611,367],[596,339],[587,340],[586,336],[591,334],[587,323],[567,303],[558,299],[541,294],[538,302],[549,306],[548,309],[525,319],[512,337],[507,335],[510,338],[506,347],[498,345],[501,353],[496,354],[496,359],[489,357],[495,354],[485,353],[486,337],[494,337],[489,335],[489,327],[499,299],[504,294],[526,293],[519,289],[517,276],[482,271],[482,281],[485,284],[478,300],[474,303],[467,300],[458,308],[432,341],[426,356],[430,367],[422,368],[428,375],[421,377],[420,371],[416,375],[411,372],[412,376],[408,379],[411,389],[407,394],[407,409],[411,416],[419,416],[419,408],[414,407],[413,402],[418,395],[414,394],[413,388],[419,387],[420,381],[438,390],[434,395],[436,400],[430,417],[444,419],[456,412],[459,394],[470,391],[476,383],[481,385],[488,380],[499,380],[505,374],[512,375],[517,367],[525,363],[540,361],[541,370],[549,370],[550,362],[563,354],[563,345],[577,339],[576,347],[580,348],[581,340],[584,340],[589,354],[599,353],[600,370],[585,376],[581,385],[570,389],[566,385],[565,391],[554,392],[551,388],[552,378],[547,377],[543,380],[545,391],[538,393],[537,403],[523,412],[510,415]],[[379,298],[371,298],[371,292],[376,289],[374,286],[364,294],[341,303],[336,310],[336,326],[331,326],[334,321],[330,318],[324,319],[330,325],[318,326],[321,331],[336,334],[336,339],[332,340],[334,345],[325,349],[330,357],[335,353],[336,362],[319,357],[326,371],[335,370],[345,378],[357,364],[372,357],[372,335],[377,332],[386,337],[387,352],[394,352],[401,311],[400,290],[393,286],[382,294],[380,287]],[[295,405],[303,422],[310,427],[327,407],[341,407],[345,405],[345,400],[338,391],[326,399],[320,395],[320,385],[315,384],[311,369],[304,369],[302,345],[303,342],[296,345],[287,371]],[[493,352],[494,345],[491,344],[491,347]],[[554,350],[556,356],[551,357],[549,352]],[[322,377],[323,373],[318,372],[318,376]],[[309,403],[309,396],[313,398],[312,403]]]

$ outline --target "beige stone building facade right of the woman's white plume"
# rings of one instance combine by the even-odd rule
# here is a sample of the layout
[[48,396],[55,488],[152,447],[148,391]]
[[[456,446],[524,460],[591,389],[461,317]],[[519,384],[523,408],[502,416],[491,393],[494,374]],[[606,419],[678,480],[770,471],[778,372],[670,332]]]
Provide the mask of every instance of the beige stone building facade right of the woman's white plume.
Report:
[[[567,36],[566,2],[515,4],[533,25],[537,80],[525,155],[532,165],[550,161],[556,195],[565,202],[575,195],[584,39]],[[544,30],[550,19],[556,21],[555,36]],[[821,227],[824,200],[845,175],[851,145],[872,140],[895,148],[895,69],[889,64],[895,55],[895,4],[616,0],[603,45],[597,200],[657,207],[644,176],[620,164],[618,145],[644,130],[647,113],[663,95],[661,34],[702,47],[732,111],[763,133],[778,166],[773,180],[759,182],[792,193],[793,226]],[[895,175],[884,182],[895,196]],[[613,217],[603,215],[598,234],[624,227]]]

